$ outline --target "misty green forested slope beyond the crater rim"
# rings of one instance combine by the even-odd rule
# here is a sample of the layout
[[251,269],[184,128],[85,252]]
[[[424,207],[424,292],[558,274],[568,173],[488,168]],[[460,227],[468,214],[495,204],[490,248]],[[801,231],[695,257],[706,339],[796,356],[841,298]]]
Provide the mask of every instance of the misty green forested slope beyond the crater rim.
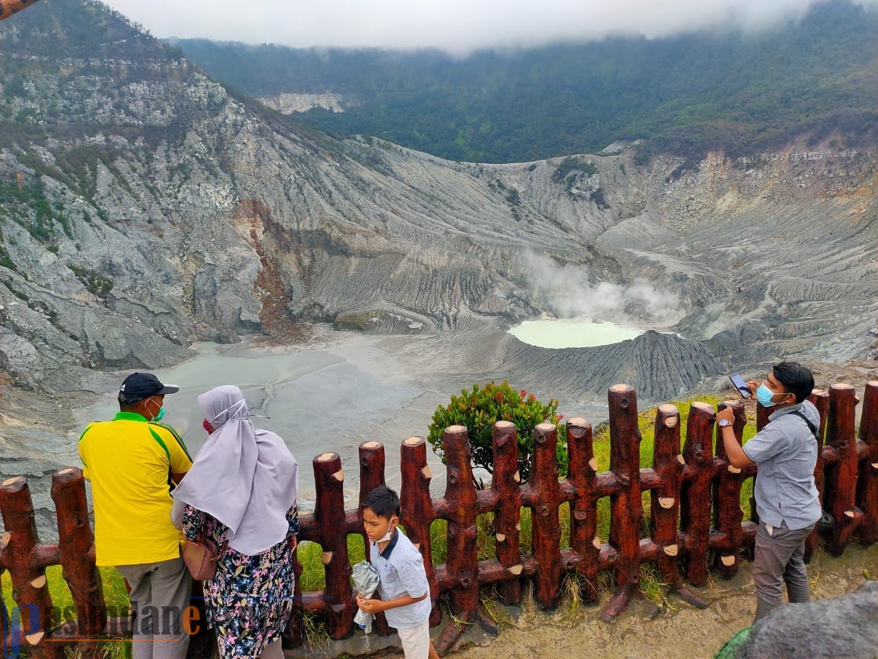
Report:
[[313,109],[322,130],[438,156],[512,162],[643,139],[656,150],[744,153],[840,131],[876,140],[878,10],[847,0],[760,33],[611,38],[464,59],[436,51],[296,50],[176,42],[208,74],[255,96],[331,91],[361,105]]

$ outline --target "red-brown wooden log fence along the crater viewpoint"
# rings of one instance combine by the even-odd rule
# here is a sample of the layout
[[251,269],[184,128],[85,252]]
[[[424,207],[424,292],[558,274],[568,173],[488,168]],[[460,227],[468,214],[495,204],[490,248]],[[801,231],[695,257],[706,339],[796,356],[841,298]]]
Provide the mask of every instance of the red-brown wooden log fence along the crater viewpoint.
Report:
[[[755,467],[737,469],[725,458],[722,441],[714,450],[715,410],[695,402],[689,412],[685,442],[680,451],[680,414],[673,405],[660,405],[655,419],[653,466],[640,468],[640,432],[637,395],[625,385],[611,387],[609,400],[610,464],[597,472],[592,428],[581,418],[566,425],[569,475],[558,479],[553,424],[536,427],[533,465],[528,483],[518,474],[518,441],[515,427],[498,422],[493,429],[494,473],[490,489],[477,490],[472,478],[471,448],[462,426],[445,431],[447,484],[442,498],[430,496],[427,443],[408,438],[401,446],[402,518],[408,536],[421,550],[434,603],[431,624],[440,622],[436,599],[448,593],[457,620],[442,631],[436,648],[447,651],[462,634],[463,623],[479,622],[496,631],[482,609],[479,588],[493,586],[499,597],[515,604],[522,597],[522,583],[532,579],[536,602],[551,609],[558,605],[565,574],[581,577],[585,601],[598,601],[597,576],[612,570],[615,592],[601,610],[601,619],[622,612],[631,597],[641,597],[640,565],[657,564],[669,590],[688,602],[707,603],[684,584],[701,586],[709,568],[725,578],[738,570],[741,550],[753,544],[755,519],[743,519],[740,491]],[[838,384],[829,392],[815,391],[811,401],[820,411],[819,452],[815,477],[823,507],[833,518],[826,547],[840,554],[856,533],[860,541],[878,540],[878,382],[867,384],[860,423],[854,434],[853,387]],[[734,429],[741,440],[745,408],[741,402],[724,402],[735,410]],[[767,421],[759,408],[757,425]],[[822,440],[821,440],[822,441]],[[360,446],[360,498],[384,483],[385,451],[378,442]],[[297,590],[297,611],[287,631],[287,644],[301,642],[301,615],[326,617],[329,634],[342,639],[354,631],[356,605],[349,576],[347,536],[363,537],[357,510],[345,510],[342,462],[336,453],[323,453],[313,460],[317,500],[313,513],[300,518],[300,540],[313,540],[323,549],[326,588],[320,592]],[[642,538],[644,511],[641,495],[651,491],[651,537]],[[609,541],[597,537],[597,504],[610,502]],[[108,619],[100,578],[95,567],[93,535],[82,472],[74,467],[53,476],[52,497],[58,516],[58,545],[42,545],[37,537],[33,507],[24,477],[0,484],[0,511],[5,532],[0,566],[11,575],[13,597],[21,611],[21,625],[29,632],[23,644],[31,655],[62,656],[65,639],[130,634],[128,619]],[[560,546],[558,509],[570,502],[570,547]],[[533,552],[523,554],[520,544],[522,506],[531,511]],[[479,561],[477,517],[493,513],[496,557]],[[436,519],[448,523],[448,553],[443,565],[433,566],[430,525]],[[809,553],[817,545],[817,532],[808,541]],[[368,543],[363,538],[368,555]],[[76,606],[76,622],[59,626],[46,583],[46,568],[61,564]],[[297,565],[300,573],[301,566]],[[298,588],[298,585],[297,585]],[[4,609],[4,629],[9,618]],[[383,618],[383,617],[382,617]],[[386,633],[384,620],[378,633]],[[7,639],[7,642],[9,640]],[[55,642],[52,642],[55,641]]]

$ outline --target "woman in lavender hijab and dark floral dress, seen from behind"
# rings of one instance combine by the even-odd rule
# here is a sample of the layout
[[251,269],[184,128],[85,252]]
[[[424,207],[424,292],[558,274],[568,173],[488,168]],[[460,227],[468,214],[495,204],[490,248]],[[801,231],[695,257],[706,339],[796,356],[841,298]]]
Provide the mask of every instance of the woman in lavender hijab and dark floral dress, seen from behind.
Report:
[[212,536],[216,576],[205,582],[207,621],[222,659],[282,659],[280,636],[292,611],[292,551],[299,532],[299,467],[284,441],[256,430],[241,389],[198,396],[210,432],[171,513],[184,535]]

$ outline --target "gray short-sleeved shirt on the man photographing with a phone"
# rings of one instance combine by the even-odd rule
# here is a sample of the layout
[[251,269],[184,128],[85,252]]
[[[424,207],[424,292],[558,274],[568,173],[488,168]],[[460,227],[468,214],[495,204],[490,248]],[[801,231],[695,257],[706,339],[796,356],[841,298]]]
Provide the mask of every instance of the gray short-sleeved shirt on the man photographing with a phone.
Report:
[[820,414],[809,401],[778,409],[769,423],[744,446],[759,473],[753,495],[759,521],[791,531],[813,525],[820,518],[820,499],[814,484],[817,439],[804,419],[791,412],[801,410],[816,427]]

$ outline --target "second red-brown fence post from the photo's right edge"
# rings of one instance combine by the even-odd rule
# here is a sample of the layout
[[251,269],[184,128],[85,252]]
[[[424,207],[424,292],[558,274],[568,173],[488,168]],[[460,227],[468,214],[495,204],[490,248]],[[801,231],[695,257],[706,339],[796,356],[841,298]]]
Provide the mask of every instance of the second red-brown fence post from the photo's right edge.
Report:
[[826,422],[826,444],[838,453],[838,462],[826,469],[824,505],[834,519],[827,549],[833,556],[841,555],[862,511],[856,507],[857,441],[854,435],[856,392],[849,384],[829,387],[829,417]]

